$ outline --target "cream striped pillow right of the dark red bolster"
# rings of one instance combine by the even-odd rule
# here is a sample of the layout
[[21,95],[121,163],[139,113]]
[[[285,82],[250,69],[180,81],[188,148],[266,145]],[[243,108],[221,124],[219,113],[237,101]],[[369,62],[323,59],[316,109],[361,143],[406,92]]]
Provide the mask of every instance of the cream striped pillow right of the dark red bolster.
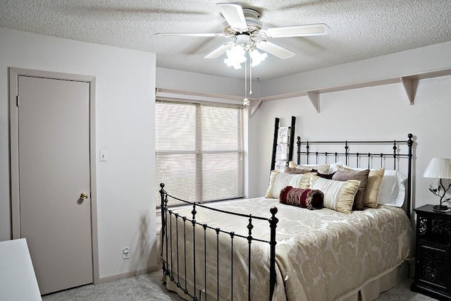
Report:
[[324,207],[342,213],[351,213],[359,185],[359,180],[328,180],[316,175],[310,177],[310,189],[324,193]]

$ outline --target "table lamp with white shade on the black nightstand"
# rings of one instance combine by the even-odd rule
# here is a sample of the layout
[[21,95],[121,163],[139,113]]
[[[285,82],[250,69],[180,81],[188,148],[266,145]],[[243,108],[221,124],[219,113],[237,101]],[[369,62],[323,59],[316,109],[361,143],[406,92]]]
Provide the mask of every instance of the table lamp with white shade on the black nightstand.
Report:
[[[445,188],[443,185],[443,179],[451,179],[451,159],[447,158],[433,158],[431,159],[431,162],[429,162],[428,167],[424,171],[423,174],[424,178],[439,178],[440,179],[440,185],[438,185],[438,188],[433,189],[432,186],[429,187],[429,190],[434,195],[437,195],[440,197],[440,204],[435,205],[433,209],[435,211],[446,211],[448,207],[443,204],[443,198],[446,195],[446,192],[450,189],[451,183],[448,183],[448,187]],[[441,194],[443,192],[443,194]],[[450,200],[450,198],[445,199],[445,202]]]

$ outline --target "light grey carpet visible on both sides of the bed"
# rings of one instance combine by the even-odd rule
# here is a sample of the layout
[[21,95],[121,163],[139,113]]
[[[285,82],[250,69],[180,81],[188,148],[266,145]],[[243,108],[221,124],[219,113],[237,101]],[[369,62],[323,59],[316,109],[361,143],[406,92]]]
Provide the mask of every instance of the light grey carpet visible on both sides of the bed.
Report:
[[[58,293],[45,295],[43,301],[144,301],[144,300],[183,300],[177,294],[169,292],[161,283],[162,271],[150,274],[102,283],[99,285],[84,285],[79,288],[63,290]],[[379,301],[426,301],[434,300],[410,290],[412,279],[398,283],[395,288],[381,294]]]

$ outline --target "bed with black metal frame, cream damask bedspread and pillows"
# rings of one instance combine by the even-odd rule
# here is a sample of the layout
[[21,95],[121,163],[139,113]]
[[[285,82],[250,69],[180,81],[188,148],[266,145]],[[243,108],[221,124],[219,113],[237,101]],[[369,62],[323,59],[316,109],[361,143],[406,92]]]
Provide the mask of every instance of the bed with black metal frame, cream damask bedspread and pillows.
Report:
[[[163,281],[186,300],[377,298],[407,276],[414,257],[412,137],[342,142],[297,137],[297,162],[290,161],[287,172],[271,171],[265,197],[171,209],[168,198],[177,197],[161,183]],[[303,169],[307,173],[297,173]],[[364,172],[374,182],[381,169],[376,204],[360,209],[349,195],[356,197],[362,181],[319,176]],[[309,187],[302,188],[307,178]],[[281,204],[288,184],[323,193],[323,208]],[[334,185],[341,190],[328,191]],[[330,201],[333,195],[340,201]]]

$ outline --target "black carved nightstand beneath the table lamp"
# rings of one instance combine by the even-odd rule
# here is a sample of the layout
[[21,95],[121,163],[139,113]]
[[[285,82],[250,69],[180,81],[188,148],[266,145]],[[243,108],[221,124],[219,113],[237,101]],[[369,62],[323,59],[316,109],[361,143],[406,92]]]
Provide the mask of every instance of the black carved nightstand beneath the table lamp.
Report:
[[411,290],[439,300],[451,300],[451,212],[416,212],[415,279]]

